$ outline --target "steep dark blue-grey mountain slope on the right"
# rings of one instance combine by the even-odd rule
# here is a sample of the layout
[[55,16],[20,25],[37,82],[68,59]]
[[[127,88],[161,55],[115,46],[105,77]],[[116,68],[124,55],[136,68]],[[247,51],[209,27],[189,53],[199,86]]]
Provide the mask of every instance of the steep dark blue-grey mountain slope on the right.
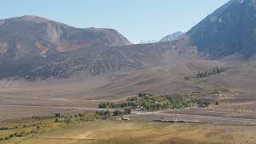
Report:
[[256,1],[231,0],[194,26],[187,35],[208,58],[256,54]]

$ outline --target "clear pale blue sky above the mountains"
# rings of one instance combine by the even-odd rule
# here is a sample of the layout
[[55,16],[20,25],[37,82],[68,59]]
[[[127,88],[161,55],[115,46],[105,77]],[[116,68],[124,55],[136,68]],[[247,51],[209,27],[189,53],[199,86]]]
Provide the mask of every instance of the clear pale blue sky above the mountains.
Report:
[[106,27],[130,41],[189,30],[228,0],[1,0],[0,18],[38,15],[76,27]]

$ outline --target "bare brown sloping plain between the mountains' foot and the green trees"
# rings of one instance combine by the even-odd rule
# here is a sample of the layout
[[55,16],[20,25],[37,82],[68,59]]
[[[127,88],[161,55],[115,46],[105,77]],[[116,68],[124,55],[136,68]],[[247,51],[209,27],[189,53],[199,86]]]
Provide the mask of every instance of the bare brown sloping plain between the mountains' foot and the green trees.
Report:
[[[184,78],[215,66],[231,67],[222,74],[186,81]],[[190,94],[225,87],[228,94],[206,96],[222,103],[222,109],[256,111],[254,62],[178,62],[128,74],[97,78],[68,78],[42,82],[0,81],[0,120],[54,114],[74,107],[96,108],[98,102],[117,102],[139,92]]]

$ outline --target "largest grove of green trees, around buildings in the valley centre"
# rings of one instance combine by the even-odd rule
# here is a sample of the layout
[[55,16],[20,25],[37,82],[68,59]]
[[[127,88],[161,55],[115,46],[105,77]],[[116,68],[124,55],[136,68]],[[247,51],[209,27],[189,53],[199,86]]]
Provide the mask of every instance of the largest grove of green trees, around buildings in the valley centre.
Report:
[[187,101],[186,96],[182,96],[181,94],[167,94],[167,95],[161,95],[161,96],[154,96],[153,94],[140,93],[136,97],[127,98],[125,102],[118,102],[118,103],[102,102],[98,104],[98,107],[99,108],[129,107],[130,109],[136,109],[139,107],[139,109],[143,111],[152,111],[152,110],[163,110],[163,109],[181,109],[183,107],[196,106],[196,103],[198,102]]

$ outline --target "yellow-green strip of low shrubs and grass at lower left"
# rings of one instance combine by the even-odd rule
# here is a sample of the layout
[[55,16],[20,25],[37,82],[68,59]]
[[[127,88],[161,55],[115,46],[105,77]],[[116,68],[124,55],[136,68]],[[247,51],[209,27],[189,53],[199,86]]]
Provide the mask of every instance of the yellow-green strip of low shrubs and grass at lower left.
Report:
[[[62,115],[60,113],[53,116],[33,117],[19,120],[18,122],[1,122],[0,141],[8,141],[13,139],[21,139],[42,134],[50,130],[62,127],[75,126],[80,122],[92,122],[99,120],[109,120],[117,116],[122,117],[127,110],[116,112],[106,111],[88,111],[75,115]],[[0,126],[1,126],[0,125]]]

